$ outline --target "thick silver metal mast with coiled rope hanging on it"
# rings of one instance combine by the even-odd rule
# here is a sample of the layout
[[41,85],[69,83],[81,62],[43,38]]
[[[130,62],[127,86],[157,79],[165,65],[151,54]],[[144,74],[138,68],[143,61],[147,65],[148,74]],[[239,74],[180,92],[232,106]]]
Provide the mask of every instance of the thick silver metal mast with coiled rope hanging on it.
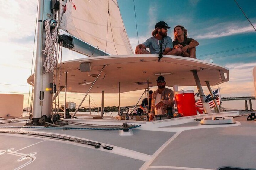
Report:
[[38,122],[42,115],[46,115],[47,118],[50,119],[52,108],[50,83],[53,83],[53,73],[46,73],[43,68],[43,63],[46,60],[46,55],[43,54],[46,37],[46,33],[43,28],[43,21],[53,18],[53,14],[51,13],[50,0],[39,0],[38,5],[37,50],[34,74],[32,122]]

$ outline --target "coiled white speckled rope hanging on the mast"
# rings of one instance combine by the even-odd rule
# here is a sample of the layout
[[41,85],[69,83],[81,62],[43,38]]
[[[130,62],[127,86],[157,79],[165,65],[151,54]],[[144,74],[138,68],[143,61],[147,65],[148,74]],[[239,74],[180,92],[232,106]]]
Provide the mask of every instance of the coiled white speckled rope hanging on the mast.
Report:
[[55,46],[57,42],[57,26],[53,28],[52,34],[50,31],[50,19],[47,19],[44,24],[46,39],[45,39],[45,50],[43,50],[43,54],[47,55],[46,60],[44,62],[44,69],[46,73],[53,72],[56,67],[56,51]]

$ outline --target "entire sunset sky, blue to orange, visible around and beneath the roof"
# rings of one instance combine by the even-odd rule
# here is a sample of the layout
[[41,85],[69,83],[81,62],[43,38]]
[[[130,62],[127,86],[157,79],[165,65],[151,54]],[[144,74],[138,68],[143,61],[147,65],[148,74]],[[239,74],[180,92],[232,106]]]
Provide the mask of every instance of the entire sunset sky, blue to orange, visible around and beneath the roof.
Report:
[[[173,38],[174,26],[183,25],[188,30],[189,37],[200,43],[197,47],[198,59],[207,61],[212,59],[214,63],[229,68],[230,81],[220,85],[222,97],[255,95],[252,69],[256,66],[256,31],[234,0],[134,0],[134,2],[139,43],[151,36],[151,31],[158,21],[168,23],[171,27],[168,36],[171,38]],[[256,27],[255,0],[237,0],[237,2]],[[138,40],[133,0],[118,0],[118,5],[131,45],[135,49]],[[0,11],[2,23],[0,25],[2,53],[0,93],[24,94],[24,101],[27,101],[29,87],[26,80],[31,73],[37,1],[13,0],[6,3],[5,0],[0,0]],[[65,54],[63,60],[83,57],[71,51],[65,51]],[[193,90],[196,91],[196,88]],[[204,90],[208,94],[206,88]],[[142,91],[121,94],[123,99],[121,106],[136,104],[141,94]],[[70,101],[77,104],[83,98],[83,95],[68,95]],[[100,106],[100,95],[95,94],[92,97]],[[105,97],[107,98],[108,94]],[[111,97],[113,100],[105,100],[105,106],[118,105],[118,95]],[[253,104],[255,105],[255,100]],[[88,104],[84,105],[88,106]],[[225,107],[244,108],[244,101],[227,104]]]

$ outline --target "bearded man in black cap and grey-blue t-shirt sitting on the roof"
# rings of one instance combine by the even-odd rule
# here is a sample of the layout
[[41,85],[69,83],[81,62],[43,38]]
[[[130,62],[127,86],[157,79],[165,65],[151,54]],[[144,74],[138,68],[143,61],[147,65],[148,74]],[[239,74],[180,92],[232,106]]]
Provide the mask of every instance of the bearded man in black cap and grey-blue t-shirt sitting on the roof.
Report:
[[[173,49],[172,39],[167,36],[168,28],[170,27],[164,21],[156,23],[155,29],[152,31],[152,37],[142,44],[137,45],[135,54],[159,54],[160,46],[158,45],[158,41],[163,39],[162,52],[164,55],[181,55],[182,50],[180,48]],[[149,48],[150,52],[146,48]]]

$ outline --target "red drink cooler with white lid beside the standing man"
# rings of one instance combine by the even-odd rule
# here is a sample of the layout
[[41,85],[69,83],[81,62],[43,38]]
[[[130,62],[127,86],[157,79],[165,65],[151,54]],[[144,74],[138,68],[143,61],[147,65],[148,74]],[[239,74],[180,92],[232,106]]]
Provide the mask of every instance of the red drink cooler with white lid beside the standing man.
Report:
[[178,113],[183,116],[197,115],[193,90],[181,90],[175,94]]

